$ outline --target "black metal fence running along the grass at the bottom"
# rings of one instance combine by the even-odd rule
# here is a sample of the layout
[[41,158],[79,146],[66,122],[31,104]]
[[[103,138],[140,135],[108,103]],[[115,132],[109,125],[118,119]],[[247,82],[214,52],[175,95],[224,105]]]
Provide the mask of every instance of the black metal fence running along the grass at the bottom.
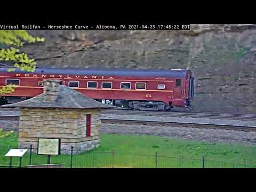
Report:
[[[111,151],[87,151],[83,154],[76,154],[71,147],[67,154],[51,156],[50,162],[46,155],[37,155],[36,149],[31,145],[28,152],[22,157],[4,157],[12,147],[0,147],[0,167],[27,167],[28,165],[40,164],[65,164],[66,168],[244,168],[256,167],[250,161],[243,163],[231,163],[215,161],[206,158],[174,157],[158,153],[151,155],[122,154],[112,149]],[[32,150],[33,149],[33,150]]]

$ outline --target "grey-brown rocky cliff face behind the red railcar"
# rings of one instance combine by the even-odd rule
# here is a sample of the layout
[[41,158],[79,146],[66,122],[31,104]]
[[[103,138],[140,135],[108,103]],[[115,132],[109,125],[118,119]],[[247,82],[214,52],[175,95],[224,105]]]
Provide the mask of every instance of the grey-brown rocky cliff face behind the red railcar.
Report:
[[190,69],[195,111],[256,113],[256,27],[191,25],[181,30],[31,30],[26,44],[43,67]]

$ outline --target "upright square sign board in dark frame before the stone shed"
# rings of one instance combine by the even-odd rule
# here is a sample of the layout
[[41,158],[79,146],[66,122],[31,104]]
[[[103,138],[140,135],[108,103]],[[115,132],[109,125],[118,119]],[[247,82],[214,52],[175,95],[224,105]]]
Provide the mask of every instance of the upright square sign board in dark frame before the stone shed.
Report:
[[60,139],[38,138],[38,155],[60,155]]

